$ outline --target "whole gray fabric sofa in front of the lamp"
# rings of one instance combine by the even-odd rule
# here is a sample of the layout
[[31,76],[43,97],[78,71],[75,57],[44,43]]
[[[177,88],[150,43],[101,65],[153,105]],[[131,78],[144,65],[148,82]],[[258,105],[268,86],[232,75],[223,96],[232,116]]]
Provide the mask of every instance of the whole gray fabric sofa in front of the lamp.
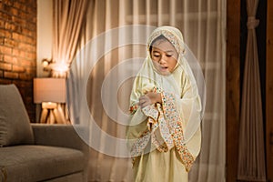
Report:
[[89,147],[74,127],[30,124],[16,86],[0,85],[0,181],[87,181]]

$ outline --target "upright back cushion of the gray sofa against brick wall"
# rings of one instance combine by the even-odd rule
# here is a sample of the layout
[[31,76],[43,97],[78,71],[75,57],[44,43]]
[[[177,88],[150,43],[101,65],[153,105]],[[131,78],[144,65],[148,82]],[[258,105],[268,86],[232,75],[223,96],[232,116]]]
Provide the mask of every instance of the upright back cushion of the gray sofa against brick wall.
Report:
[[17,87],[0,85],[0,147],[33,143],[33,131]]

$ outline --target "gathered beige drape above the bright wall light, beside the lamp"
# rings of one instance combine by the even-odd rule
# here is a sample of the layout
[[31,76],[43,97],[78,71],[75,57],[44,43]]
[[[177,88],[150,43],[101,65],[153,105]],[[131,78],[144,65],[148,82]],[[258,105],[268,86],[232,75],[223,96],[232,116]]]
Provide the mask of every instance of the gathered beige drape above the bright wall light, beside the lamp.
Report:
[[86,18],[88,0],[53,0],[53,50],[51,64],[53,76],[66,76],[64,73],[76,55],[76,45],[81,27]]

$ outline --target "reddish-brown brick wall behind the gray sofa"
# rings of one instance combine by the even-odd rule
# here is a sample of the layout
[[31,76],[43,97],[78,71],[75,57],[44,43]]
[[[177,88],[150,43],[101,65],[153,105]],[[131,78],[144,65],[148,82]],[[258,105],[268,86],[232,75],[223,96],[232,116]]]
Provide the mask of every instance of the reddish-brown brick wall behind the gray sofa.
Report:
[[0,84],[15,84],[35,121],[36,0],[0,0]]

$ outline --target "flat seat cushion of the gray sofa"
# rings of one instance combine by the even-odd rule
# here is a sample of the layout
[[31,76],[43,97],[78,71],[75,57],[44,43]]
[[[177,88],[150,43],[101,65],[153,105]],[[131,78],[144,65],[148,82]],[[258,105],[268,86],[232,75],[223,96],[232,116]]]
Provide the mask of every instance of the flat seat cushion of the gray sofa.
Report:
[[41,181],[83,172],[84,160],[84,154],[80,150],[66,147],[2,147],[0,173],[7,182]]

